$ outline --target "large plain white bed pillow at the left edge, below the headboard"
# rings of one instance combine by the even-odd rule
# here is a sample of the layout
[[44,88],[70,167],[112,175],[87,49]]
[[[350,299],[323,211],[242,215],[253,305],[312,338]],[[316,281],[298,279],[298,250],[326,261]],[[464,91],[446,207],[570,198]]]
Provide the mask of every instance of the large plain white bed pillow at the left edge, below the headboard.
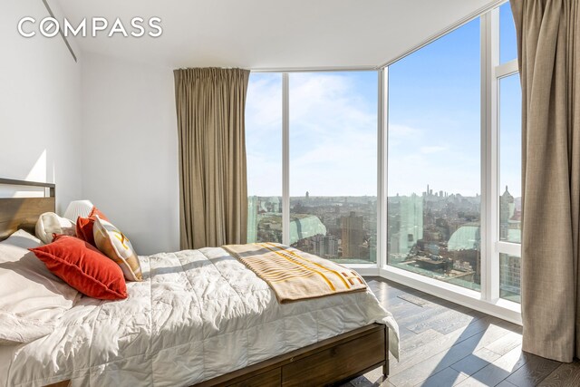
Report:
[[40,246],[23,230],[0,242],[0,344],[30,343],[50,334],[80,297],[28,251]]

